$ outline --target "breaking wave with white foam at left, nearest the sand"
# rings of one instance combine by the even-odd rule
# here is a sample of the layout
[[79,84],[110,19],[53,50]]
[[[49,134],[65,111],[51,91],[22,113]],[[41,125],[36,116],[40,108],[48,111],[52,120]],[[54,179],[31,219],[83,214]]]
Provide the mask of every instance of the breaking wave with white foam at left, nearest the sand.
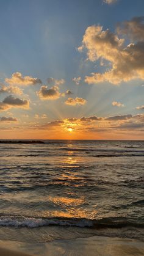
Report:
[[36,228],[47,225],[88,227],[92,229],[121,229],[124,227],[144,228],[143,222],[132,222],[126,218],[34,218],[24,216],[0,216],[0,226]]

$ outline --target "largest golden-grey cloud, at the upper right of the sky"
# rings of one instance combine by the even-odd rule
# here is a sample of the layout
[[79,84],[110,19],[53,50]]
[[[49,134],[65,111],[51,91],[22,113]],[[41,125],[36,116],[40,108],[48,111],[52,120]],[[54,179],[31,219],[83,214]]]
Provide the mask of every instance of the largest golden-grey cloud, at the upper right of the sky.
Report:
[[[136,22],[135,24],[135,27],[138,27]],[[123,31],[121,30],[121,32]],[[130,36],[130,32],[128,35]],[[108,81],[112,84],[119,84],[122,81],[131,81],[131,79],[144,80],[143,37],[138,32],[133,32],[133,38],[137,41],[125,46],[124,38],[119,38],[117,34],[110,32],[109,29],[104,31],[102,26],[96,25],[87,27],[82,46],[78,50],[87,49],[88,60],[95,62],[104,59],[110,64],[110,68],[104,73],[92,73],[91,76],[85,76],[85,82],[96,84]]]

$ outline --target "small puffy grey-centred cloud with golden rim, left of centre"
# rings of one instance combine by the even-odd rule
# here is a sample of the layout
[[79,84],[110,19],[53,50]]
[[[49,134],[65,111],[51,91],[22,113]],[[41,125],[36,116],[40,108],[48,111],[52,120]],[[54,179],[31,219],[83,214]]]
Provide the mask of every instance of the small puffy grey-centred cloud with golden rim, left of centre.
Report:
[[41,86],[37,94],[41,100],[56,100],[60,97],[59,88],[57,86],[52,86],[49,89],[48,86]]

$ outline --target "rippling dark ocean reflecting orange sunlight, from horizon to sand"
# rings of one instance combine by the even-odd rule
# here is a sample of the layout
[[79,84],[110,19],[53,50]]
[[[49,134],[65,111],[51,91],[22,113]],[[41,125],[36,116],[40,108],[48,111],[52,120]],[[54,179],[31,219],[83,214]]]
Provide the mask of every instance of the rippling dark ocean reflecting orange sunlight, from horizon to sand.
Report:
[[144,241],[144,141],[0,144],[0,240]]

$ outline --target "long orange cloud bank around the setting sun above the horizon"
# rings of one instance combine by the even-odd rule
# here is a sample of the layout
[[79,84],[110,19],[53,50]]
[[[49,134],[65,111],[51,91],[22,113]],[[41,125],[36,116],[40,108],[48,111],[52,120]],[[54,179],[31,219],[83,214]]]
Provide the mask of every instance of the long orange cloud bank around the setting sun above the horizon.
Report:
[[[97,137],[98,134],[101,136],[99,139],[108,138],[109,135],[109,139],[115,138],[115,136],[124,136],[124,139],[128,139],[128,136],[133,135],[133,131],[135,136],[142,137],[144,131],[144,114],[115,115],[113,117],[97,117],[93,115],[79,119],[72,117],[70,119],[54,120],[43,125],[40,123],[37,125],[32,124],[31,126],[32,130],[45,130],[46,133],[49,132],[49,136],[52,130],[52,134],[63,134],[63,136],[66,137],[67,134],[70,133],[70,128],[71,136],[82,136],[81,139],[84,137]],[[135,133],[135,131],[137,131],[137,133]]]

